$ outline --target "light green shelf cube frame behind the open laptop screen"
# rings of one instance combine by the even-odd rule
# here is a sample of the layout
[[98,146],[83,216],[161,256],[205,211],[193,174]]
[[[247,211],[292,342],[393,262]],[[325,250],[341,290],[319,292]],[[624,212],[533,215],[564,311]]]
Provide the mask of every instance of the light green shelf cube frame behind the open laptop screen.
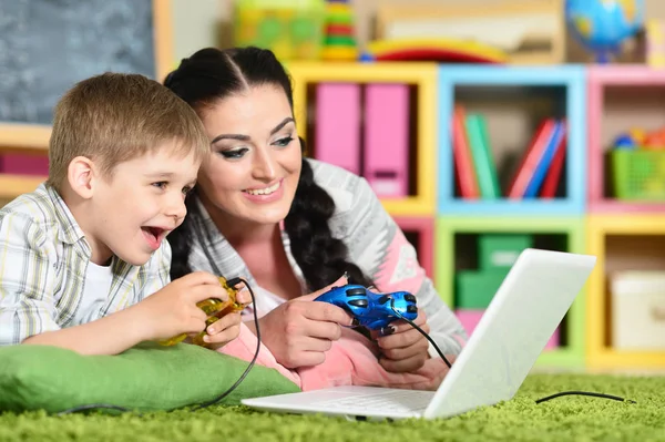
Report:
[[[479,267],[474,259],[475,235],[531,235],[534,246],[584,253],[584,223],[579,217],[438,216],[436,222],[436,286],[443,300],[458,309],[456,274]],[[471,243],[470,243],[471,241]],[[458,250],[458,246],[464,250]],[[461,251],[461,253],[460,253]],[[462,261],[463,260],[463,261]],[[562,321],[560,346],[541,353],[538,366],[579,368],[584,366],[585,290],[582,290]],[[528,312],[525,312],[528,313]]]

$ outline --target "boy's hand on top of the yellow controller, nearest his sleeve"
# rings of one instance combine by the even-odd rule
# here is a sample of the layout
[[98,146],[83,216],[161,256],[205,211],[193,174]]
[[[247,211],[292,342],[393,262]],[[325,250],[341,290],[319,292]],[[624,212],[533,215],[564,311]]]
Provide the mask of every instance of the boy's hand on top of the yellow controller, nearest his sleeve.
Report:
[[208,298],[227,300],[228,294],[216,276],[196,271],[172,281],[131,308],[137,316],[143,339],[161,340],[203,331],[207,317],[196,304]]

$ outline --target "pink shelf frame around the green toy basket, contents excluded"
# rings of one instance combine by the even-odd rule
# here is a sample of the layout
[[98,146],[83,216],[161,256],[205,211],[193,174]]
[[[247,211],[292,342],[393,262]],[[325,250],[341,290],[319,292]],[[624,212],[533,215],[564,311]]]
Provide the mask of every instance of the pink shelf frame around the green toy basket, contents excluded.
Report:
[[[644,65],[595,65],[587,69],[589,208],[591,212],[665,212],[665,204],[623,203],[604,195],[601,131],[607,86],[663,86],[665,71]],[[627,130],[628,127],[626,127]]]

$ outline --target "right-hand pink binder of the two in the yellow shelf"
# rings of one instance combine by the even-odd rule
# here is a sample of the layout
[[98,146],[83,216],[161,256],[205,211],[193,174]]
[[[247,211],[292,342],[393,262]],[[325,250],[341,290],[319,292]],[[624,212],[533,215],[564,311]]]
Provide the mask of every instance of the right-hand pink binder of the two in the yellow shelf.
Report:
[[368,84],[365,90],[364,175],[380,197],[409,188],[409,86]]

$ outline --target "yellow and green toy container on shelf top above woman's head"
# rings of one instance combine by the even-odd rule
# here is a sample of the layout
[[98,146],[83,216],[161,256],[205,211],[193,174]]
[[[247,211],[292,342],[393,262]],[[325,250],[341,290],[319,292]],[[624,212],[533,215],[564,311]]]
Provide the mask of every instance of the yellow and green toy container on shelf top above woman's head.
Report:
[[237,0],[235,44],[270,49],[279,60],[318,60],[325,0]]

